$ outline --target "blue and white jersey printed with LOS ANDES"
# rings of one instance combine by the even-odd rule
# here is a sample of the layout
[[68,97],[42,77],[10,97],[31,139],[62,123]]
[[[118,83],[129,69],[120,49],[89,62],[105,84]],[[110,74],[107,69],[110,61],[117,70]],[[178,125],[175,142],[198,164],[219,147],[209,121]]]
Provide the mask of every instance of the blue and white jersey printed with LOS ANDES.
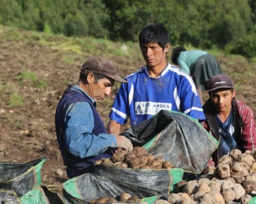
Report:
[[131,120],[137,125],[162,109],[179,111],[204,120],[193,79],[171,64],[157,78],[149,77],[146,66],[125,78],[119,88],[109,117],[120,124]]

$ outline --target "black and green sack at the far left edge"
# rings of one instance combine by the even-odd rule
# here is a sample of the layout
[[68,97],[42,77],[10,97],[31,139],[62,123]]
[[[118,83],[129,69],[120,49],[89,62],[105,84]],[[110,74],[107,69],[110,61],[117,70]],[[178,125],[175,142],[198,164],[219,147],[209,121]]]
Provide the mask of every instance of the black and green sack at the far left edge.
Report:
[[45,158],[28,163],[1,162],[0,189],[13,190],[17,197],[41,185],[41,169]]

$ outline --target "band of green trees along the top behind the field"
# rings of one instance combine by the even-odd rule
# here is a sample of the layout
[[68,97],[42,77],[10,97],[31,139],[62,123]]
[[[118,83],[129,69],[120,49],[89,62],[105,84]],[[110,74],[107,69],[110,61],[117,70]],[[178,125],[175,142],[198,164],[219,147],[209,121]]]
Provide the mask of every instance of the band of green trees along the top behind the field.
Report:
[[0,24],[66,36],[138,41],[150,22],[172,45],[256,56],[254,0],[0,0]]

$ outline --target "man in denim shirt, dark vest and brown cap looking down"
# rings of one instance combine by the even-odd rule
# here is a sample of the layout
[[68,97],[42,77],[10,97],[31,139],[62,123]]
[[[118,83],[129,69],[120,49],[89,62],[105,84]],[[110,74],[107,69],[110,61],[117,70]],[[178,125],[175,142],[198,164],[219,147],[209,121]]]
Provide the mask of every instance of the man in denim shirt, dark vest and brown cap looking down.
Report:
[[114,64],[103,57],[87,60],[76,84],[64,91],[55,114],[55,128],[69,178],[93,172],[93,163],[109,158],[115,147],[133,149],[129,139],[107,134],[96,110],[98,100],[108,97],[117,75]]

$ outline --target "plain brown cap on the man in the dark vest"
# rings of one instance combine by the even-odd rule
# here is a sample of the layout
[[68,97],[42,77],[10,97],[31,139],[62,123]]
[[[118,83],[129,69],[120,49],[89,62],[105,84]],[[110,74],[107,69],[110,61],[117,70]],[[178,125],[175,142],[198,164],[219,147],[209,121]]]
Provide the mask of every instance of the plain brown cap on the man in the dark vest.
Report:
[[92,57],[82,65],[80,74],[100,74],[116,81],[127,83],[126,80],[117,75],[114,64],[104,57]]

